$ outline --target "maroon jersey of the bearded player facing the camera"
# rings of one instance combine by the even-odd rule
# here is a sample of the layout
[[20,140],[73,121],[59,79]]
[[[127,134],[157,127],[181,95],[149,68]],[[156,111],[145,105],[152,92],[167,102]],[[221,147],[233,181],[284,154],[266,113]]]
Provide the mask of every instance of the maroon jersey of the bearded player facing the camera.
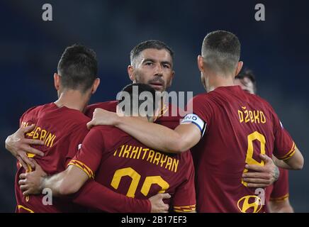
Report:
[[[87,106],[85,115],[89,118],[92,118],[94,114],[94,110],[96,108],[105,109],[106,111],[116,112],[118,101],[105,101],[97,104],[91,104]],[[161,113],[155,119],[154,123],[159,123],[162,126],[166,126],[167,128],[176,128],[179,126],[179,121],[181,120],[181,116],[179,116],[182,110],[177,108],[172,104],[164,105]],[[173,116],[176,113],[176,116]]]

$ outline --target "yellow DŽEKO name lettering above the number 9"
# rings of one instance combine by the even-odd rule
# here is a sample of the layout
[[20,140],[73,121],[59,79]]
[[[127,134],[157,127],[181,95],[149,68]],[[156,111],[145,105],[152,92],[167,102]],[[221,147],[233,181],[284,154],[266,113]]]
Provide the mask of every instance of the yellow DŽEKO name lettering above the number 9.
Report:
[[238,116],[240,123],[266,123],[263,111],[247,110],[246,106],[242,106],[242,109],[238,110]]

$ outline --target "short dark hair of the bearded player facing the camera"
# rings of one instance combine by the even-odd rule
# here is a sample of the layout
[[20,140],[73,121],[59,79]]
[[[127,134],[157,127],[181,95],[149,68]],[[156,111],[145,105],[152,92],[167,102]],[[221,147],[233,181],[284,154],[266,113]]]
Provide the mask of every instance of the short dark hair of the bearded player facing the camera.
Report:
[[146,49],[157,49],[162,50],[165,49],[171,55],[172,60],[174,60],[174,51],[167,44],[163,43],[159,40],[146,40],[145,42],[137,44],[130,52],[130,61],[131,65],[134,64],[134,60],[136,57],[140,55],[140,52]]

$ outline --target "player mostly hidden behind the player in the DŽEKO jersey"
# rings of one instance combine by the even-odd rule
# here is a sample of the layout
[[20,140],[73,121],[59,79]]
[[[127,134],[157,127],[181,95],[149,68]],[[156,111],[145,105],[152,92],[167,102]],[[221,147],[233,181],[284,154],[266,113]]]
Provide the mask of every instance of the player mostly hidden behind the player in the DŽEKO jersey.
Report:
[[[251,70],[240,72],[240,74],[235,77],[235,84],[239,85],[244,91],[250,94],[257,94],[257,81]],[[257,169],[254,170],[257,171]],[[293,213],[293,207],[288,199],[288,170],[280,168],[278,171],[280,172],[279,178],[274,184],[266,188],[266,199],[269,201],[268,209],[271,213]],[[244,175],[245,177],[250,177],[246,175],[257,177],[257,172],[245,173]],[[246,182],[246,178],[244,181]]]

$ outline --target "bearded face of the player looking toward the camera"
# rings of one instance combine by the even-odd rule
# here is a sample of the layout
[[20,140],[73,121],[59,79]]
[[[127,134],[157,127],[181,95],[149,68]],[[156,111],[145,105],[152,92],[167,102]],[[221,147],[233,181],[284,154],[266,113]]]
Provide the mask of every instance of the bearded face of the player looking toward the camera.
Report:
[[164,92],[172,85],[173,61],[167,50],[146,49],[135,60],[133,82],[149,84],[156,91]]

